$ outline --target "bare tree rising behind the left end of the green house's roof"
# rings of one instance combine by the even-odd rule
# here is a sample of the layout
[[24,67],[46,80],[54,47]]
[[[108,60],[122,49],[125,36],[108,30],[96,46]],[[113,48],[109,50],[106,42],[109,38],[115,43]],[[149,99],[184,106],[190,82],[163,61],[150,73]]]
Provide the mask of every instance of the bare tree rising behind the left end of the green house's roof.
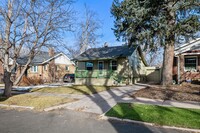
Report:
[[88,48],[95,47],[98,43],[99,37],[102,35],[99,34],[101,29],[101,20],[98,19],[96,12],[90,10],[85,5],[85,13],[82,16],[82,20],[78,23],[77,31],[75,34],[76,47],[67,46],[66,49],[71,54],[72,57],[75,57]]

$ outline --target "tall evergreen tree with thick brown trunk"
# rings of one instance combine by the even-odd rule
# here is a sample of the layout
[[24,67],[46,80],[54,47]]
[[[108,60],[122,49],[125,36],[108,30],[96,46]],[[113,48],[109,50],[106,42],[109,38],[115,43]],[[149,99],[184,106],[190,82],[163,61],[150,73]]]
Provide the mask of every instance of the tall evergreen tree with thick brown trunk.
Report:
[[172,84],[174,44],[177,36],[200,28],[199,0],[114,0],[117,39],[146,48],[164,47],[162,84]]

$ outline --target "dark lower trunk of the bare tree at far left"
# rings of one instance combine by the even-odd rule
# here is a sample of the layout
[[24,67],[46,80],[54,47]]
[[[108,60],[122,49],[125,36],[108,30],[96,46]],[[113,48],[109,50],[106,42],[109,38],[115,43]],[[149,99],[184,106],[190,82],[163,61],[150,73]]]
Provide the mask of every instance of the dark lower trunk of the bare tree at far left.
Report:
[[5,84],[5,90],[4,90],[3,96],[10,97],[10,96],[12,96],[11,90],[12,90],[12,86],[13,86],[13,82],[11,81],[11,72],[4,70],[4,79],[3,80],[4,80],[4,84]]

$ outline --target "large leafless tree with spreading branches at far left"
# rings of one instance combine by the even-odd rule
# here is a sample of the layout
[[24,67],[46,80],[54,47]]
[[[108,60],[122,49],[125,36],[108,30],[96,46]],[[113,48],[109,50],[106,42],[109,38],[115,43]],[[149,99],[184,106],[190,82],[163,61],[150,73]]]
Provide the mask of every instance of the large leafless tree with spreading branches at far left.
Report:
[[[34,56],[72,26],[73,0],[2,0],[0,3],[0,61],[4,68],[4,96],[11,96],[13,83],[20,81]],[[13,81],[20,51],[28,48],[28,61]],[[12,63],[10,63],[12,59]]]

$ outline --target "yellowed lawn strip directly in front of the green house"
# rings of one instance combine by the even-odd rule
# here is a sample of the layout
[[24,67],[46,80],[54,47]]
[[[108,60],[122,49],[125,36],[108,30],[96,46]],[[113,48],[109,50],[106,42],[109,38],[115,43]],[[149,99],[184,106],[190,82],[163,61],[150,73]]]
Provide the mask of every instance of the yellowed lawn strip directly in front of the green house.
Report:
[[55,87],[55,88],[37,88],[31,90],[31,92],[45,92],[45,93],[61,93],[61,94],[94,94],[101,91],[109,90],[110,87],[107,86],[83,86],[83,85],[74,85],[74,86],[64,86],[64,87]]

